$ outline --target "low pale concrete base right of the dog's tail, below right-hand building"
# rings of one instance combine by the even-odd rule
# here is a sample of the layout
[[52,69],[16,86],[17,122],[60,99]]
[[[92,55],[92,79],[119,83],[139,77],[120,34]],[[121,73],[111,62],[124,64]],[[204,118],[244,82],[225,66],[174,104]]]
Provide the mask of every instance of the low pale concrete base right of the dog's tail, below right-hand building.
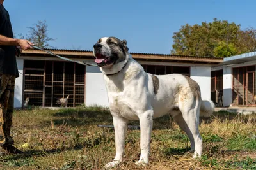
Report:
[[228,108],[215,108],[214,111],[228,111],[230,113],[243,113],[243,115],[250,115],[256,113],[255,107],[228,107]]

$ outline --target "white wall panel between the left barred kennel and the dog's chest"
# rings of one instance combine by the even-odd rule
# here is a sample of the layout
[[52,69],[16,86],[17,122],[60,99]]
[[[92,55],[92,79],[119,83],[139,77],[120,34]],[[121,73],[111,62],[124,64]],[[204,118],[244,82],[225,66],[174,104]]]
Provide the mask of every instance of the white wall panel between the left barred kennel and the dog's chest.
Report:
[[108,96],[103,74],[99,67],[86,66],[86,106],[99,105],[108,107]]

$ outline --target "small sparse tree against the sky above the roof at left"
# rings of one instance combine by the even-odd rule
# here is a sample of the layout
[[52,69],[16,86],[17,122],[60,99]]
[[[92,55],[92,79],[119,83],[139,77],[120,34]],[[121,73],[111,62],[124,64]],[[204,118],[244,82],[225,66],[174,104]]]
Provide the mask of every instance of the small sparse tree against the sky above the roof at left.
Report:
[[27,39],[35,44],[35,46],[41,48],[55,48],[54,46],[49,45],[49,41],[56,41],[54,38],[48,36],[48,25],[46,21],[38,21],[38,23],[33,24],[35,27],[28,27],[29,34]]

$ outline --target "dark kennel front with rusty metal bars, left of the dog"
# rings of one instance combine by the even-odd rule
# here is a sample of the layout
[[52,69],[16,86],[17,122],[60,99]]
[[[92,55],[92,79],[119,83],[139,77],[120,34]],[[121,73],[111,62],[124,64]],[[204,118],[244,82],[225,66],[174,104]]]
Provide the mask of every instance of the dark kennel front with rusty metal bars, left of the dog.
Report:
[[86,66],[74,62],[24,60],[23,98],[35,106],[54,107],[67,97],[68,107],[85,103]]

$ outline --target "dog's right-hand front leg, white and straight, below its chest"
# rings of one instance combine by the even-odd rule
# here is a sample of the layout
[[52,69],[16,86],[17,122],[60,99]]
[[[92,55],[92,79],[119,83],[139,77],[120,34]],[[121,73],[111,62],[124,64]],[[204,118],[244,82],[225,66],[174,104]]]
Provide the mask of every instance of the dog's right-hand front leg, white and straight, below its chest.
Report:
[[150,138],[153,126],[153,110],[147,110],[141,115],[140,119],[140,160],[136,162],[138,165],[146,166],[148,164],[148,157],[150,153]]

